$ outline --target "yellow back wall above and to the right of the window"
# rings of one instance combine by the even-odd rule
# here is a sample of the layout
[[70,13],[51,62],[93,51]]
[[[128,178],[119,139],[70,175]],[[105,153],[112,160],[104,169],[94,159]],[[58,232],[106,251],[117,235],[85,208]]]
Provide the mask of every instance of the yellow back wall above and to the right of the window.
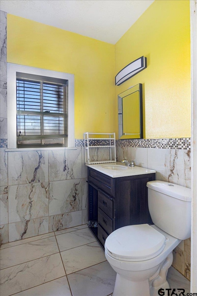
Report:
[[7,61],[75,75],[75,138],[114,132],[114,45],[8,14]]

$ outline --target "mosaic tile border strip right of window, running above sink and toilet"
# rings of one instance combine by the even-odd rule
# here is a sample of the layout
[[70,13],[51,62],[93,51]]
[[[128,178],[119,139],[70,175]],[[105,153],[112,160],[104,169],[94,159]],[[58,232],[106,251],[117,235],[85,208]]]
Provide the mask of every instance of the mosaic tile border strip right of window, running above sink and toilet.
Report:
[[[92,146],[107,145],[108,140],[96,140],[90,142]],[[95,144],[96,143],[96,144]],[[84,146],[83,139],[75,139],[75,147]],[[191,150],[191,138],[163,138],[163,139],[129,139],[116,140],[118,147],[137,147],[137,148],[159,148],[159,149],[185,149]]]

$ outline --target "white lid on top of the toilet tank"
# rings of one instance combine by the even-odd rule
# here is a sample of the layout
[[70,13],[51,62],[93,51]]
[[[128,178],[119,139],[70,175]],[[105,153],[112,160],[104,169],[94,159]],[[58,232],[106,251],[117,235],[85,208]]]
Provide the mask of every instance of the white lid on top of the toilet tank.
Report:
[[147,187],[182,201],[191,201],[191,189],[181,185],[156,180],[147,182]]

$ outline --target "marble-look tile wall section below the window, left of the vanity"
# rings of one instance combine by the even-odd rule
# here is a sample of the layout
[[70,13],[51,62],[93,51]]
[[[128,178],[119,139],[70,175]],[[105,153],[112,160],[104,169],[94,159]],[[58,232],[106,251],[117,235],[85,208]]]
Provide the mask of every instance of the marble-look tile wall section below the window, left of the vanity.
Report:
[[87,222],[83,147],[54,151],[1,149],[2,243]]

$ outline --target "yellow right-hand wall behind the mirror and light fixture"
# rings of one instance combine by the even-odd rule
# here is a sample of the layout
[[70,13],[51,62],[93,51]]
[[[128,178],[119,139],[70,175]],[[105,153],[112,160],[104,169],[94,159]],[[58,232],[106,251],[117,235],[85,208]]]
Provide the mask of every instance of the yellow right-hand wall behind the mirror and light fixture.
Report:
[[143,83],[144,137],[190,137],[189,0],[155,0],[115,44],[115,74],[141,56],[147,69],[116,86],[116,97]]

